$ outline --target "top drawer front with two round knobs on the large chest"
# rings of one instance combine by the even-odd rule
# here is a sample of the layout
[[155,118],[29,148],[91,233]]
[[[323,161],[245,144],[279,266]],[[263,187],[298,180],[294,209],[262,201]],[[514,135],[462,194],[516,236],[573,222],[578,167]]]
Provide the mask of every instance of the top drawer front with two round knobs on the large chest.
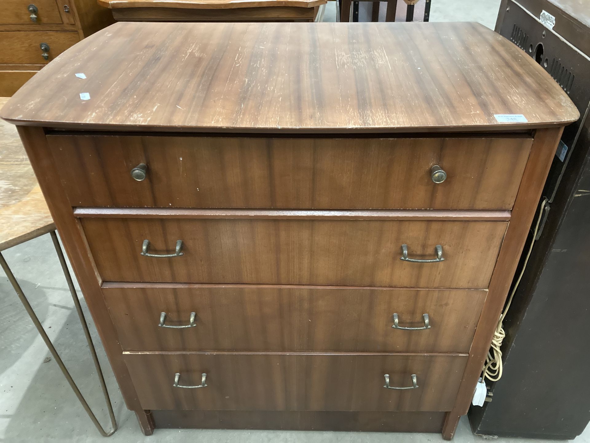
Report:
[[[72,206],[512,209],[530,138],[48,136]],[[131,171],[145,164],[145,178]],[[431,177],[433,165],[447,174]],[[141,174],[140,174],[141,175]]]

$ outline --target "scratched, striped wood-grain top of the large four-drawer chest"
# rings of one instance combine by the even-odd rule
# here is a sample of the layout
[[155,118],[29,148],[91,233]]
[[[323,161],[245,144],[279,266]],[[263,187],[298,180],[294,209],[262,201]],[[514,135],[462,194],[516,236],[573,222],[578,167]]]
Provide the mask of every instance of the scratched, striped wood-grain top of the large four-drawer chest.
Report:
[[579,118],[516,45],[483,25],[442,22],[119,22],[58,57],[0,115],[70,129],[283,133],[497,131]]

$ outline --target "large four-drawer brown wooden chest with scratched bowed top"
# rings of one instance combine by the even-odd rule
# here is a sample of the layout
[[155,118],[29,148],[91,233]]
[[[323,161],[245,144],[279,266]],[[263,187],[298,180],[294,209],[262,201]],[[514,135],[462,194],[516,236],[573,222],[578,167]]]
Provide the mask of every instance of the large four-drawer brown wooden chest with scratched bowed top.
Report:
[[118,23],[2,117],[143,432],[451,438],[579,115],[479,25]]

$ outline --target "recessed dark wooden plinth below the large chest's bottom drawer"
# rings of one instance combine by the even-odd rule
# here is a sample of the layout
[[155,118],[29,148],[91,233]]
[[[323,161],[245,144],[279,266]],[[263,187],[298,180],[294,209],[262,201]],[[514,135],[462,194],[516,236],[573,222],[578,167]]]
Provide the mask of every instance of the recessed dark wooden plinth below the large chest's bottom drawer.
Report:
[[158,428],[440,432],[444,412],[152,411]]

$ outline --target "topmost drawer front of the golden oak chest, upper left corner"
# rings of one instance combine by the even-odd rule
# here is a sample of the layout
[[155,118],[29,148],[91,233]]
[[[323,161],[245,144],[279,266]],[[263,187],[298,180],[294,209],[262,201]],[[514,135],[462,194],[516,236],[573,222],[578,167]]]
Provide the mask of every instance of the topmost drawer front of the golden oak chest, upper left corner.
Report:
[[[31,5],[36,11],[29,10]],[[48,25],[62,22],[60,5],[56,0],[2,0],[1,7],[0,25]]]

